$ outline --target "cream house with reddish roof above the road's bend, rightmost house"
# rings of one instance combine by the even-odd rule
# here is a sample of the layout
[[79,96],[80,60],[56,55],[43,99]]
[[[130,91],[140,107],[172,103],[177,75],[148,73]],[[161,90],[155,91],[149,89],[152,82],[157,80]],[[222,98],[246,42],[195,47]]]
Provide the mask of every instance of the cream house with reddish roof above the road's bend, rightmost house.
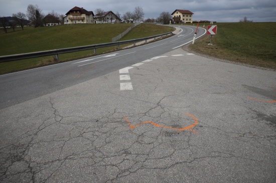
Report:
[[173,15],[173,21],[175,23],[192,23],[193,22],[193,12],[187,9],[176,9],[171,15]]

